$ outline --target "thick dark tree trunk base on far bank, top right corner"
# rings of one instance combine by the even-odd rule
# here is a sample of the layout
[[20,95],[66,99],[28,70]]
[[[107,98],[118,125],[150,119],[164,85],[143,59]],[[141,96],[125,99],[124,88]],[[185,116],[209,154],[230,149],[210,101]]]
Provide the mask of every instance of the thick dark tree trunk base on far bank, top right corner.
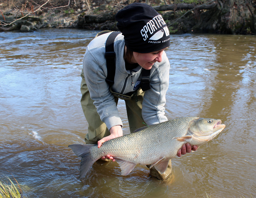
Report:
[[255,0],[218,0],[218,5],[200,15],[194,32],[256,34]]

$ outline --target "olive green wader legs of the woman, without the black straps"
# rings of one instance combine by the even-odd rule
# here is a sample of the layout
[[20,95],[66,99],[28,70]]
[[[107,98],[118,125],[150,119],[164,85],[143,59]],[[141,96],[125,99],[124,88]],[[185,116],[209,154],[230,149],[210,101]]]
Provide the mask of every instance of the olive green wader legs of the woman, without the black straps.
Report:
[[[103,137],[110,135],[110,132],[104,122],[101,121],[99,114],[97,113],[97,108],[93,104],[93,100],[90,97],[86,81],[84,79],[84,72],[81,73],[82,82],[81,82],[81,105],[84,111],[84,116],[88,122],[88,133],[85,135],[86,144],[97,144],[99,140]],[[125,100],[127,118],[129,122],[130,132],[145,126],[145,122],[141,115],[142,110],[142,101],[143,101],[144,92],[140,89],[136,94],[134,94],[130,99]],[[118,97],[114,97],[117,105]],[[171,164],[171,160],[169,162]],[[167,170],[160,174],[153,167],[150,169],[150,173],[153,177],[157,177],[160,180],[166,180],[172,171],[172,166],[168,166]]]

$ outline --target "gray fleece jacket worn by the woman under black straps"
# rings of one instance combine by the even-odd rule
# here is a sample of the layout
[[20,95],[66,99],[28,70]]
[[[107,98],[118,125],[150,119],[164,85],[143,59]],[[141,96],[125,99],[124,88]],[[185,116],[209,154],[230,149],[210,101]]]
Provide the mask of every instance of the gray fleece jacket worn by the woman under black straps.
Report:
[[[97,108],[100,119],[107,125],[108,129],[116,125],[123,126],[114,96],[105,81],[107,76],[105,43],[109,34],[102,34],[89,43],[83,61],[84,78],[91,98],[94,100],[93,104]],[[125,95],[138,89],[142,67],[138,66],[132,71],[125,69],[124,36],[122,34],[116,37],[114,50],[116,52],[116,74],[112,91]],[[144,93],[142,117],[147,125],[167,121],[164,115],[164,105],[169,86],[169,70],[170,63],[164,52],[162,62],[156,62],[150,71],[151,89]],[[134,86],[132,86],[132,82],[134,82]]]

